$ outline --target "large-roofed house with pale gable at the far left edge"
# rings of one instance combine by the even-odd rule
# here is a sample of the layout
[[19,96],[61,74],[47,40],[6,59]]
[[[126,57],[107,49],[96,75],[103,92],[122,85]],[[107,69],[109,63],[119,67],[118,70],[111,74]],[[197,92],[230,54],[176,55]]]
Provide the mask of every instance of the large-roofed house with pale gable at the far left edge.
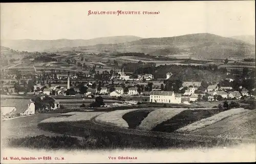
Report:
[[35,104],[31,99],[1,100],[1,111],[9,111],[8,117],[17,117],[35,114]]

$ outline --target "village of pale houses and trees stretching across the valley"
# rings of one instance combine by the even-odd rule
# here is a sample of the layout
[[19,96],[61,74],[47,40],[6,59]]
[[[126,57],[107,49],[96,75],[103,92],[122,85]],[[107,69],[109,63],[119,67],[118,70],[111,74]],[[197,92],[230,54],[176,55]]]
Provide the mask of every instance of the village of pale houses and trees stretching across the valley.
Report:
[[[189,105],[200,102],[240,100],[255,97],[255,88],[252,88],[250,91],[243,86],[235,86],[236,89],[233,88],[233,78],[226,78],[219,81],[219,83],[212,84],[206,81],[182,82],[177,79],[172,80],[173,73],[171,72],[166,73],[166,78],[162,79],[154,79],[152,74],[124,73],[123,69],[118,72],[111,70],[110,72],[112,74],[108,72],[104,78],[104,72],[108,71],[103,71],[101,74],[86,75],[88,81],[79,81],[77,78],[79,74],[70,74],[70,72],[66,72],[66,74],[45,74],[44,72],[44,76],[35,74],[30,77],[20,73],[14,75],[7,74],[5,76],[8,79],[7,84],[10,84],[12,79],[17,79],[17,76],[20,77],[18,78],[18,83],[14,81],[13,88],[7,88],[3,87],[3,84],[1,85],[1,96],[3,98],[5,95],[7,97],[30,96],[32,99],[39,96],[43,101],[50,97],[52,104],[49,103],[45,107],[39,107],[40,109],[38,109],[38,102],[34,102],[32,99],[27,99],[26,101],[23,99],[6,99],[1,102],[2,117],[12,118],[31,115],[41,110],[58,110],[60,107],[90,107],[91,104],[84,103],[83,100],[86,101],[89,99],[92,101],[95,97],[113,100],[112,103],[100,105],[101,107],[125,106],[140,104],[142,102],[157,104],[183,103]],[[98,79],[97,76],[99,76]],[[61,81],[60,85],[58,85],[58,81]],[[170,82],[172,85],[169,84]],[[175,90],[174,88],[177,87],[178,89]],[[73,98],[75,104],[70,104],[68,97]],[[75,102],[76,100],[77,102]],[[119,102],[114,100],[119,100]],[[124,101],[126,102],[124,103]],[[37,107],[35,107],[35,104],[37,104]]]

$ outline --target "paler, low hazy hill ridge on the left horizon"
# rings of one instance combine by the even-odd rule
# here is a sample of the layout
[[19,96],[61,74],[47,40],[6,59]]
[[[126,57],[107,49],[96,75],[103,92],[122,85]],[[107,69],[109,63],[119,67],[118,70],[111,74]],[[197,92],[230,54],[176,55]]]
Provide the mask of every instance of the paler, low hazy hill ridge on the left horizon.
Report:
[[139,40],[140,37],[136,36],[115,36],[115,37],[103,37],[94,38],[89,40],[82,39],[58,39],[58,40],[1,40],[1,45],[16,49],[19,51],[57,51],[63,47],[79,47],[79,46],[90,46],[96,44],[115,44],[130,42]]

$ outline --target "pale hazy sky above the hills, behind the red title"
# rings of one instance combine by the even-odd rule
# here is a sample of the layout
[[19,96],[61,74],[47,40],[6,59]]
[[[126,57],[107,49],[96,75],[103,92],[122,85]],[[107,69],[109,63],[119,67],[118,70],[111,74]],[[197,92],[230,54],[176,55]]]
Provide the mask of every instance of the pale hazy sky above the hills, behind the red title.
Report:
[[[2,3],[1,39],[142,38],[212,33],[255,35],[254,1]],[[89,15],[88,11],[140,11],[140,15]],[[160,12],[143,15],[143,11]]]

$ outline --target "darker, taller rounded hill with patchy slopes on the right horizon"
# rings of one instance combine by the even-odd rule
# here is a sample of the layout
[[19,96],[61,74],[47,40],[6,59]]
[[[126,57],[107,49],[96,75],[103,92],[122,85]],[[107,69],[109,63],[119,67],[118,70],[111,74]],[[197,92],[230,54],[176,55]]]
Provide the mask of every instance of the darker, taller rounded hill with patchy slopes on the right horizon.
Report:
[[168,56],[180,52],[190,57],[204,59],[226,59],[255,55],[255,46],[241,40],[200,33],[177,37],[146,38],[118,44],[98,44],[73,47],[73,50],[97,52],[143,52],[155,56]]

